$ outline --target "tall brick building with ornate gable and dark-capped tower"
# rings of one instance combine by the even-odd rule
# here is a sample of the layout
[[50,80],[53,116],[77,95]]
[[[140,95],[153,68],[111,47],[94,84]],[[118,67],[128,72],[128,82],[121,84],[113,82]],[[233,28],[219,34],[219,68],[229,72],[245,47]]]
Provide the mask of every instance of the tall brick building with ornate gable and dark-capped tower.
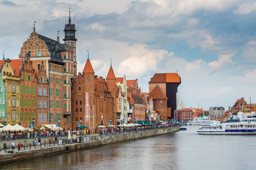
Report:
[[[69,22],[64,28],[64,44],[57,40],[38,34],[35,31],[21,47],[19,59],[24,59],[29,53],[33,68],[40,70],[41,65],[46,69],[49,79],[49,123],[56,124],[58,119],[60,125],[71,128],[71,80],[76,78],[76,28],[75,24]],[[39,101],[37,103],[39,104]],[[49,106],[48,106],[49,107]],[[37,118],[39,117],[37,113]]]

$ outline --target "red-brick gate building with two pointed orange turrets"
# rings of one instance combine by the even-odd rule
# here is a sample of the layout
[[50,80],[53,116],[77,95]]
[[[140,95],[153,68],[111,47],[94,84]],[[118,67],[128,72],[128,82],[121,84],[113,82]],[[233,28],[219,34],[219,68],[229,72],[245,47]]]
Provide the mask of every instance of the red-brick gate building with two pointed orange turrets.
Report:
[[106,81],[95,75],[88,55],[83,72],[72,80],[73,129],[78,127],[80,121],[81,125],[92,128],[93,133],[98,132],[97,126],[108,126],[111,120],[111,124],[116,125],[113,105],[119,98],[116,97],[116,79],[112,67],[107,77]]

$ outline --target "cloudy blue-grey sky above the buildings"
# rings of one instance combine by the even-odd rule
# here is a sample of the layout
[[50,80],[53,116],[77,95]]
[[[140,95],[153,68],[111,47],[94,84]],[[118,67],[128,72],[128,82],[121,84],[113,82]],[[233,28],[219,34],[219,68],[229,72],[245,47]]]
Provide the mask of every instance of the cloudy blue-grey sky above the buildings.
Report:
[[[0,51],[17,59],[33,31],[64,38],[71,8],[78,71],[89,49],[95,74],[138,79],[181,77],[177,99],[187,107],[256,103],[255,0],[0,0]],[[67,19],[68,20],[68,19]],[[62,41],[63,42],[63,41]]]

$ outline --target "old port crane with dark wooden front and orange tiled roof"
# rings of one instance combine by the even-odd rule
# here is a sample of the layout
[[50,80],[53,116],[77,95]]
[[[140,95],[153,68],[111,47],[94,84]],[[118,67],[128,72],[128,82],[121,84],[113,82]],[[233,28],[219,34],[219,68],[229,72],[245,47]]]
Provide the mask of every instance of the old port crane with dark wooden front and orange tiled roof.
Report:
[[[163,119],[165,120],[174,118],[174,111],[177,108],[176,93],[180,83],[181,83],[181,79],[177,73],[156,73],[148,82],[149,94],[151,93],[151,91],[155,89],[156,86],[158,86],[157,91],[161,90],[167,98],[167,102],[163,100],[162,103],[160,103],[161,106],[154,106],[155,108],[157,107],[167,108],[167,112],[162,111],[162,113],[160,113],[161,117],[163,117]],[[153,99],[153,100],[157,100],[157,99]]]

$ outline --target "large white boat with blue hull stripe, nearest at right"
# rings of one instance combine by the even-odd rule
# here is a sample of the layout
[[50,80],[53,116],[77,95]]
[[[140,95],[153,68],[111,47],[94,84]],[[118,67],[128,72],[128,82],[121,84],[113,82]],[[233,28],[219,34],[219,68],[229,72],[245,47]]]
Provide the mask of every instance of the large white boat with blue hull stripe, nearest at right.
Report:
[[198,129],[198,134],[256,134],[256,118],[242,118],[240,122],[220,123],[211,121]]

